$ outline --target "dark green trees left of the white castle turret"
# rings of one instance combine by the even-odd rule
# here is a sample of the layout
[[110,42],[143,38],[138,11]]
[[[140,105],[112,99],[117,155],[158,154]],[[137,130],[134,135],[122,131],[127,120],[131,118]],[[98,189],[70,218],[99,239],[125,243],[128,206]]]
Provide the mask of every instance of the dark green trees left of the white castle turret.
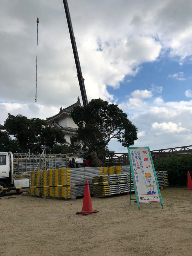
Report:
[[[63,133],[60,130],[51,128],[45,120],[39,118],[27,119],[27,117],[17,114],[8,114],[4,123],[6,134],[14,136],[13,140],[17,145],[17,152],[40,153],[42,146],[46,146],[46,152],[51,153],[52,148],[57,143],[65,144]],[[11,150],[14,152],[14,150]],[[14,152],[15,153],[15,152]]]

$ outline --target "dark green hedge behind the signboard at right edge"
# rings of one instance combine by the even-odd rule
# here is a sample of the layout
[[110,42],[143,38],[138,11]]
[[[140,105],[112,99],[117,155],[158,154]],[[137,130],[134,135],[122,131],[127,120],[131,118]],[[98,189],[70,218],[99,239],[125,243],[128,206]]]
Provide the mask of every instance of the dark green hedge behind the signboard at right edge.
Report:
[[187,172],[192,176],[192,154],[162,157],[154,161],[156,171],[167,171],[169,185],[187,186]]

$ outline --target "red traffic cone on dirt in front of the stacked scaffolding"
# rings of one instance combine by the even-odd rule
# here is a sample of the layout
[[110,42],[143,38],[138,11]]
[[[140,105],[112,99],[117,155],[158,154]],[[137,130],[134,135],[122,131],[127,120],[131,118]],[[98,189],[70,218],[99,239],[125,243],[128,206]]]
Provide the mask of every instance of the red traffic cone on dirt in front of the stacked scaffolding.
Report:
[[89,182],[86,179],[85,181],[85,190],[84,190],[84,196],[83,196],[83,207],[81,212],[76,212],[78,215],[91,215],[95,214],[99,211],[94,211],[92,209],[92,203],[91,203],[91,195],[90,195],[90,190],[89,190]]

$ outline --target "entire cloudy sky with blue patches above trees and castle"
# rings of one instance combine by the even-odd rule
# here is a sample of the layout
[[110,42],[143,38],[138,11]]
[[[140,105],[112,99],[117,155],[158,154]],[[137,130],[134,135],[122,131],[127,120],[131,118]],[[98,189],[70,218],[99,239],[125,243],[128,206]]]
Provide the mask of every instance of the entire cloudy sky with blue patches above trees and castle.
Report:
[[[81,99],[63,1],[0,5],[0,124],[7,113],[45,119]],[[88,101],[118,104],[138,129],[134,147],[192,145],[192,1],[68,5]],[[127,152],[116,139],[108,146]]]

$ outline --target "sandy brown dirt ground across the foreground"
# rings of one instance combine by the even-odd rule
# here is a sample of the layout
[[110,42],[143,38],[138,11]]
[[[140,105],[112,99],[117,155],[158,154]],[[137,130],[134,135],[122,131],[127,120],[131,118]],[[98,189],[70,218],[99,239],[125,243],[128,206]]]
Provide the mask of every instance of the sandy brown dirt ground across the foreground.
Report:
[[[0,255],[192,255],[192,191],[167,187],[160,203],[129,195],[92,197],[100,212],[81,216],[83,198],[8,193],[0,199]],[[11,197],[11,198],[9,198]],[[135,195],[132,195],[134,198]]]

